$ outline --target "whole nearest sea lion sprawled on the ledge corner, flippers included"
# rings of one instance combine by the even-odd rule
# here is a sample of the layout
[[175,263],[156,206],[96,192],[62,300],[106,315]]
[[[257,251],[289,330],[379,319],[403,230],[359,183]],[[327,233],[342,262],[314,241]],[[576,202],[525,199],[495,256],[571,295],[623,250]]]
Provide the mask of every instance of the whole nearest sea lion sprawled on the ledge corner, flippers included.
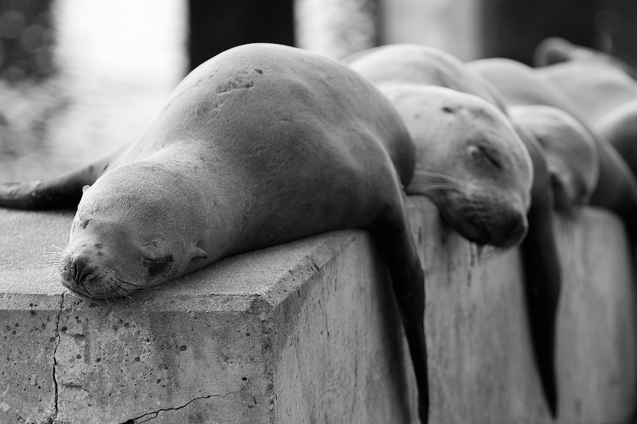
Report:
[[244,45],[186,76],[127,146],[54,179],[0,186],[0,205],[56,208],[81,196],[60,273],[88,298],[368,228],[386,258],[426,423],[425,285],[401,189],[412,170],[406,127],[365,78],[302,49]]

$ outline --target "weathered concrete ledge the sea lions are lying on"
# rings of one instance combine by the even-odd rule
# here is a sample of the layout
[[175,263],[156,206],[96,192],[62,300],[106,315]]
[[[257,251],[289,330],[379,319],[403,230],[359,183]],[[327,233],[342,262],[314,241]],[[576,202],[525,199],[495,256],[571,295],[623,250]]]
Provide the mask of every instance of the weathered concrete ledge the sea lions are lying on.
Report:
[[[427,275],[431,422],[553,422],[519,253],[480,263],[429,201],[408,204]],[[71,219],[0,210],[0,423],[416,422],[366,232],[231,257],[128,305],[97,305],[65,293],[43,254],[67,240]],[[637,317],[623,227],[594,208],[556,227],[558,423],[624,422],[637,397]]]

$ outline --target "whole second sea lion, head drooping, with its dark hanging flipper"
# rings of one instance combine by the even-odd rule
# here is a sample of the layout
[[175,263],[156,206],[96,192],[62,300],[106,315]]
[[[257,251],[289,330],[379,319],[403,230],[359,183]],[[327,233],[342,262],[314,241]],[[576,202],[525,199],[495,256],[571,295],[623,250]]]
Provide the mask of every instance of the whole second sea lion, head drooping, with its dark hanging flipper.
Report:
[[[471,225],[460,225],[472,214],[458,213],[457,208],[449,207],[444,201],[447,196],[467,196],[467,187],[473,189],[472,196],[482,194],[481,198],[477,196],[482,202],[481,211],[488,211],[487,221],[500,227],[493,232],[497,235],[511,227],[493,218],[502,206],[490,201],[491,194],[503,196],[505,204],[510,199],[527,198],[529,186],[524,175],[532,164],[528,232],[522,241],[524,285],[536,363],[549,410],[555,416],[553,339],[561,265],[553,233],[551,186],[541,146],[529,131],[512,128],[498,90],[449,54],[432,47],[389,45],[345,60],[381,88],[408,126],[416,146],[416,171],[407,192],[432,197],[447,222],[468,240],[500,247],[512,245],[512,238],[476,237]],[[461,219],[454,219],[454,215]]]

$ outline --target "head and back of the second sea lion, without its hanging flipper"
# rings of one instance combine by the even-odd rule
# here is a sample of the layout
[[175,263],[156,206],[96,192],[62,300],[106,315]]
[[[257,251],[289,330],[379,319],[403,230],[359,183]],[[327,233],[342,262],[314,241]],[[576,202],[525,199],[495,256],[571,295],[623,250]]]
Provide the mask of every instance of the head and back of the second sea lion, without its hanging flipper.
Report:
[[387,45],[345,58],[398,109],[415,145],[408,194],[425,194],[461,235],[510,247],[527,230],[529,154],[497,91],[433,47]]

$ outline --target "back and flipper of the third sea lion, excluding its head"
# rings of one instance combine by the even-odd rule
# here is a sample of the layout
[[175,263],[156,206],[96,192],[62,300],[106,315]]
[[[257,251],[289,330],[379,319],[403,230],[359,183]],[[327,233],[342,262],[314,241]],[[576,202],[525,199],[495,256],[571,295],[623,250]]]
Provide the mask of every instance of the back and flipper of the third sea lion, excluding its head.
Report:
[[512,59],[479,59],[468,65],[493,83],[507,105],[546,105],[568,112],[595,140],[599,178],[590,204],[611,208],[624,220],[631,240],[637,241],[637,181],[621,155],[587,121],[573,100],[537,71]]

